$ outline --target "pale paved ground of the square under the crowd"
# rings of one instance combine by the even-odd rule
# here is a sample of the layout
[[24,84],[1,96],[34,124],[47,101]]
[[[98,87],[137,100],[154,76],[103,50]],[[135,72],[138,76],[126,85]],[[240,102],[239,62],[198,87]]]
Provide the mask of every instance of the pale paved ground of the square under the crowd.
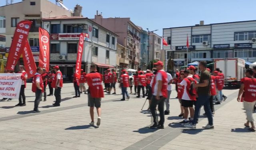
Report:
[[[31,84],[28,84],[31,87]],[[174,89],[174,86],[173,86]],[[48,89],[47,89],[48,92]],[[130,92],[130,91],[129,91]],[[102,100],[102,124],[89,126],[87,95],[72,98],[72,84],[64,84],[60,107],[52,107],[54,96],[40,102],[40,113],[32,113],[34,93],[26,89],[27,106],[14,107],[18,100],[0,102],[1,150],[256,150],[256,133],[243,124],[242,103],[236,102],[237,89],[226,89],[226,102],[215,105],[214,130],[203,130],[207,118],[201,116],[197,130],[183,128],[176,92],[171,94],[171,114],[166,115],[165,129],[153,130],[148,102],[131,95],[105,95]],[[202,111],[203,113],[203,111]],[[202,114],[201,113],[201,114]],[[96,116],[96,115],[95,115]],[[254,114],[254,117],[255,114]]]

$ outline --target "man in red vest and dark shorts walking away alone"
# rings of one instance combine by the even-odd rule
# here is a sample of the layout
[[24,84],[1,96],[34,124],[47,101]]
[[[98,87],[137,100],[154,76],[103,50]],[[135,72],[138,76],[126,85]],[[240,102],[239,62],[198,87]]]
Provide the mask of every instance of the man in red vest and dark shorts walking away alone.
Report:
[[90,116],[92,121],[90,125],[94,126],[94,106],[97,109],[98,119],[97,126],[100,126],[101,122],[101,98],[104,98],[104,92],[102,87],[102,76],[100,73],[95,72],[96,65],[92,64],[90,73],[86,75],[86,81],[89,86],[88,89],[88,106],[90,106]]

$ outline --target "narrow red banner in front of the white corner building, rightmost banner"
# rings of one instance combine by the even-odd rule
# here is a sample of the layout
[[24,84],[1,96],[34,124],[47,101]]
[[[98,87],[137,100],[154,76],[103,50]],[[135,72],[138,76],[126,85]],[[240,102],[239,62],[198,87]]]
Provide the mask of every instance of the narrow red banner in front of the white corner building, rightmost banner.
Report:
[[80,79],[81,76],[81,63],[82,63],[82,55],[84,50],[84,34],[80,34],[79,38],[79,45],[78,45],[78,52],[77,52],[77,58],[76,58],[76,73],[78,74],[78,79]]

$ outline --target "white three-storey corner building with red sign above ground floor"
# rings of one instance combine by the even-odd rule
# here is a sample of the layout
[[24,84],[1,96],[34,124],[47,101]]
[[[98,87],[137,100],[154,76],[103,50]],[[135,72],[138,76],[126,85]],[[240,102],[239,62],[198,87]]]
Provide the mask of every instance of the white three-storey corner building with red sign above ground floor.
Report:
[[115,68],[118,35],[114,32],[79,16],[43,18],[42,26],[50,33],[50,66],[59,65],[67,78],[74,73],[81,32],[86,35],[82,68],[90,72],[90,65],[96,64],[100,73]]

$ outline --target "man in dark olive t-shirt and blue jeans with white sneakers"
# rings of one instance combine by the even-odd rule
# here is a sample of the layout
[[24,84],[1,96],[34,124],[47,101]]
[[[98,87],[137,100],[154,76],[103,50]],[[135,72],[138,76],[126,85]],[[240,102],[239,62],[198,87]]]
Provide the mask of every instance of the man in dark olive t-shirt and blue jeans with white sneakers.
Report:
[[206,70],[207,63],[206,61],[201,61],[199,63],[199,69],[201,71],[201,76],[199,83],[195,85],[195,87],[198,87],[198,99],[196,101],[195,106],[195,114],[194,114],[194,120],[190,124],[186,124],[186,128],[196,129],[196,124],[198,120],[198,116],[200,114],[200,109],[202,106],[204,106],[206,115],[208,117],[208,124],[206,126],[203,126],[203,128],[207,129],[213,129],[213,118],[212,118],[212,112],[210,110],[210,87],[211,87],[211,74]]

